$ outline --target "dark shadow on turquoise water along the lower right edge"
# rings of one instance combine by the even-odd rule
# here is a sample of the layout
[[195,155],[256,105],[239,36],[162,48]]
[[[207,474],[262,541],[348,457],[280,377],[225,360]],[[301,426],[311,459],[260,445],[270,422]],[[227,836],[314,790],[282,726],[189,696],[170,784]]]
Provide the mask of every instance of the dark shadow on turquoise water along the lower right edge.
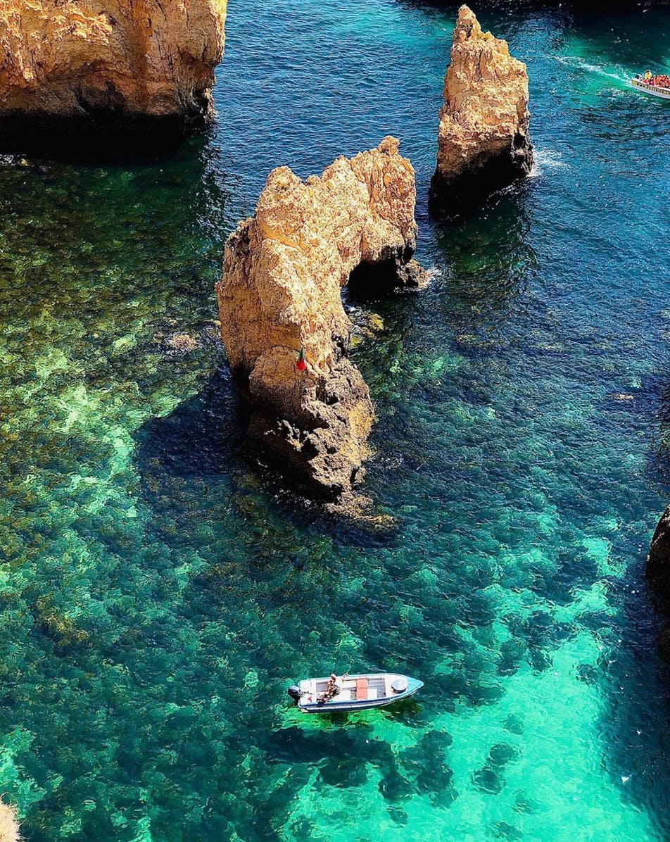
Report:
[[[644,506],[651,509],[653,498],[664,488],[660,518],[664,505],[670,502],[667,380],[664,385],[662,377],[651,378],[646,394],[635,395],[635,401],[641,404],[642,425],[653,430],[652,440],[661,442],[660,447],[651,448],[647,462],[650,500]],[[653,523],[648,533],[635,535],[624,549],[630,564],[614,630],[619,638],[616,661],[601,661],[595,674],[583,674],[582,680],[598,681],[602,674],[615,673],[599,722],[606,746],[604,762],[622,797],[650,818],[655,838],[670,839],[670,815],[658,809],[670,792],[670,594],[646,576],[646,555],[655,526]],[[635,688],[644,688],[644,692]]]

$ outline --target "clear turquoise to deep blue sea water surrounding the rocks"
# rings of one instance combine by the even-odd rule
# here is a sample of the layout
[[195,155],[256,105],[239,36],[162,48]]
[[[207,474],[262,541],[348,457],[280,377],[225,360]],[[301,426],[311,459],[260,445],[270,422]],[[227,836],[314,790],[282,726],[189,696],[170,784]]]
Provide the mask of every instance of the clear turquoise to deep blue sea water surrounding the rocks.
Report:
[[[538,166],[440,230],[454,16],[231,3],[210,136],[0,168],[0,790],[28,839],[670,836],[642,575],[670,496],[670,112],[625,85],[670,64],[670,16],[481,13],[529,64]],[[435,277],[355,350],[397,519],[370,536],[247,461],[212,285],[270,168],[388,132]],[[285,686],[332,667],[426,687],[298,716]]]

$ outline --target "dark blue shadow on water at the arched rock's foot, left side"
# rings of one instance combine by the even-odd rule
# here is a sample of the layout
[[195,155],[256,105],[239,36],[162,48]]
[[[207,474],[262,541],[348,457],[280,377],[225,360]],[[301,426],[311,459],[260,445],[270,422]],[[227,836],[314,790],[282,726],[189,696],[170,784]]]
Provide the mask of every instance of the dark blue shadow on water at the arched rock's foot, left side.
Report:
[[374,547],[399,540],[396,525],[371,529],[329,514],[303,496],[247,439],[248,420],[248,408],[227,365],[221,364],[197,395],[143,424],[136,433],[136,464],[145,502],[155,512],[218,505],[223,517],[232,501],[237,516],[249,524],[279,516],[297,530],[326,534],[344,545]]

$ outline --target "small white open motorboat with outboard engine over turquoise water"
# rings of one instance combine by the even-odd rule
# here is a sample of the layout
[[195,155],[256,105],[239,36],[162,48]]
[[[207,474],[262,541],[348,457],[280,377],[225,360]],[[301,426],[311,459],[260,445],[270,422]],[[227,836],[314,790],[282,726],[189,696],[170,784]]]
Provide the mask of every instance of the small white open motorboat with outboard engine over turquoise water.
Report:
[[366,711],[408,699],[423,687],[423,681],[396,673],[343,675],[335,682],[335,692],[326,701],[329,679],[304,679],[291,685],[289,695],[303,713]]

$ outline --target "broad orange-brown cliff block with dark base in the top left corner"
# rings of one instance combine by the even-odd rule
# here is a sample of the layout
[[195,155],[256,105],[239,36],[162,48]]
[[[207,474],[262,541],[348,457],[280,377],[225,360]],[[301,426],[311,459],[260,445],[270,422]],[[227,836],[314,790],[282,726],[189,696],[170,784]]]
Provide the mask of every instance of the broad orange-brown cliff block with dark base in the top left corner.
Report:
[[2,147],[154,144],[203,124],[225,19],[226,0],[0,0]]

